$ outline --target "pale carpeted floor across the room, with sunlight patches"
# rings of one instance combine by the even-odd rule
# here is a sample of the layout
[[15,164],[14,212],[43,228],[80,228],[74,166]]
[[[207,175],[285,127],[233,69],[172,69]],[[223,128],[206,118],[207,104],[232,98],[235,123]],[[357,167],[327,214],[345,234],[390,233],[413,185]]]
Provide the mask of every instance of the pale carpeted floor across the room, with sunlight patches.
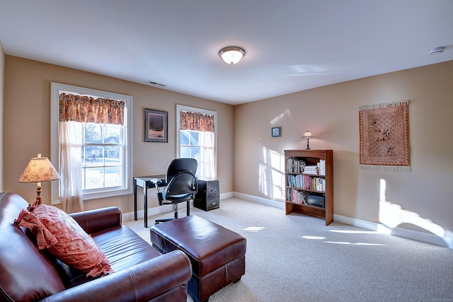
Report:
[[[246,274],[210,302],[453,301],[448,248],[342,223],[325,226],[322,219],[238,198],[190,214],[247,238]],[[149,226],[171,215],[149,216]],[[149,242],[143,219],[124,223]]]

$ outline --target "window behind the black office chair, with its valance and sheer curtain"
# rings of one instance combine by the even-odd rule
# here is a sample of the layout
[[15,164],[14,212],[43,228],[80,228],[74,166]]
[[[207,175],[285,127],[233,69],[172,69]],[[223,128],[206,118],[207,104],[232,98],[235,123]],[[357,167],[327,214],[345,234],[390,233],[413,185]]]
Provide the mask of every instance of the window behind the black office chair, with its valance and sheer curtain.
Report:
[[217,112],[176,106],[177,156],[198,161],[197,177],[217,178]]

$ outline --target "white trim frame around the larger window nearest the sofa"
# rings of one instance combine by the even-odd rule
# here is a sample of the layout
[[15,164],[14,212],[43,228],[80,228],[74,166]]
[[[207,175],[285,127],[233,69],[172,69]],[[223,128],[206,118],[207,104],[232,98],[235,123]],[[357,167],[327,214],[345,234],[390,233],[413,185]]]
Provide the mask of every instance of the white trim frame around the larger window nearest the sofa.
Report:
[[[125,141],[125,188],[120,190],[106,190],[105,192],[95,192],[84,194],[84,200],[98,199],[105,197],[120,196],[125,194],[132,194],[132,96],[122,95],[118,93],[111,93],[108,91],[98,91],[96,89],[83,88],[78,86],[65,85],[61,83],[51,83],[51,97],[50,97],[50,158],[52,165],[59,171],[59,93],[73,92],[81,95],[96,95],[101,98],[113,98],[115,100],[124,100],[127,106],[126,132],[127,141]],[[60,204],[59,197],[59,181],[51,182],[51,202],[52,204]]]

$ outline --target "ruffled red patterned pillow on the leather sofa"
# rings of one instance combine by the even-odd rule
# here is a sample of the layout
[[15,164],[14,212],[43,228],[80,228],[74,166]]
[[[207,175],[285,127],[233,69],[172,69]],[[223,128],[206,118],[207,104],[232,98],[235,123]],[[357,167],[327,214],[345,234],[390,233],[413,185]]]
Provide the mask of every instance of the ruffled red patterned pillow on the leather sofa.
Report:
[[30,228],[40,250],[47,248],[60,261],[87,272],[87,277],[114,272],[93,238],[65,211],[37,202],[28,210],[23,209],[15,222]]

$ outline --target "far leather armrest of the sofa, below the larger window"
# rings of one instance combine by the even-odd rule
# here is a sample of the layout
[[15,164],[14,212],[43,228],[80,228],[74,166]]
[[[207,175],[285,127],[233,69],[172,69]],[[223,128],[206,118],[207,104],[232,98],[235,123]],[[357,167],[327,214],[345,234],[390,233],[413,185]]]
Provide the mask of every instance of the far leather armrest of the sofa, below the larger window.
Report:
[[118,207],[106,207],[69,214],[88,234],[122,225],[122,213]]

